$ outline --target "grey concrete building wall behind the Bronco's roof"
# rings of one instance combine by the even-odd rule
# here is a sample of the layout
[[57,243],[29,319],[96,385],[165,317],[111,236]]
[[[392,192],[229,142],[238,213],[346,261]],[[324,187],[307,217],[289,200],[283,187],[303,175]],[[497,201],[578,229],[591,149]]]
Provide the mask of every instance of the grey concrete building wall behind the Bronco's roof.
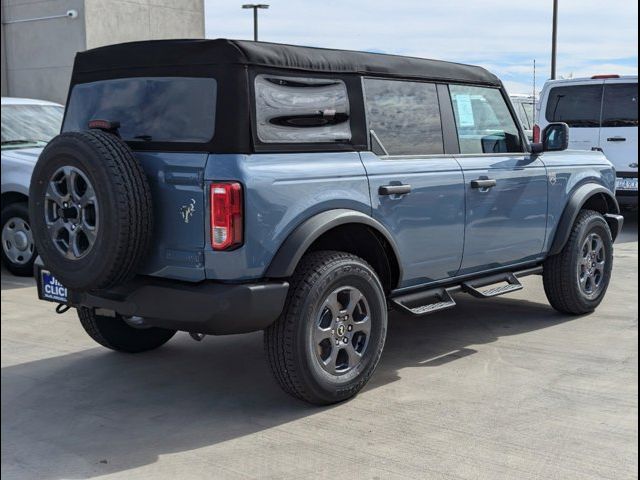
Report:
[[[61,15],[77,18],[21,23]],[[64,103],[76,52],[113,43],[204,38],[204,0],[2,0],[2,95]]]

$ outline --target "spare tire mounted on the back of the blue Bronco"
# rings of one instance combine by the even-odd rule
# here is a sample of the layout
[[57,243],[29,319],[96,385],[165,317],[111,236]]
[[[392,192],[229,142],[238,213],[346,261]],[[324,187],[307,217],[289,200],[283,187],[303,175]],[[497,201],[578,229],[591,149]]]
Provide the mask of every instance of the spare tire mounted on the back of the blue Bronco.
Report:
[[131,149],[99,130],[66,132],[31,177],[29,215],[38,253],[73,290],[126,281],[150,244],[149,184]]

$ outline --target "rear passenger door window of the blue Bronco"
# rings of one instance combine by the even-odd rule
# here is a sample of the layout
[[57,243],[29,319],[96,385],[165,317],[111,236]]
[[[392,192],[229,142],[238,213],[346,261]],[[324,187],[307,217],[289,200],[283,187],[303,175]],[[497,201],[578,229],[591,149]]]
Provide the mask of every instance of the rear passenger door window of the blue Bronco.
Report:
[[364,90],[369,129],[389,155],[444,152],[434,84],[367,78]]

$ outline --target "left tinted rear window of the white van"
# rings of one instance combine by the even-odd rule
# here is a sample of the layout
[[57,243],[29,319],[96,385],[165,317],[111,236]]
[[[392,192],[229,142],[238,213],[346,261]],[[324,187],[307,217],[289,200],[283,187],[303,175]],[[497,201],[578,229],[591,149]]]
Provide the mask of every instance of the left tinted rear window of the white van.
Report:
[[549,92],[546,117],[570,127],[599,127],[602,85],[554,87]]

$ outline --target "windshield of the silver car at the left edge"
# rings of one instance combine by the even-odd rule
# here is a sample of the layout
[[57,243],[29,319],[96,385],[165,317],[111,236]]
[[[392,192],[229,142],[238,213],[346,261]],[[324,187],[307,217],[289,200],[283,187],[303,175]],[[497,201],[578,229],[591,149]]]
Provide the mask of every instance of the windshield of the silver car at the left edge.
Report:
[[63,115],[57,105],[3,105],[2,149],[46,145],[60,133]]

